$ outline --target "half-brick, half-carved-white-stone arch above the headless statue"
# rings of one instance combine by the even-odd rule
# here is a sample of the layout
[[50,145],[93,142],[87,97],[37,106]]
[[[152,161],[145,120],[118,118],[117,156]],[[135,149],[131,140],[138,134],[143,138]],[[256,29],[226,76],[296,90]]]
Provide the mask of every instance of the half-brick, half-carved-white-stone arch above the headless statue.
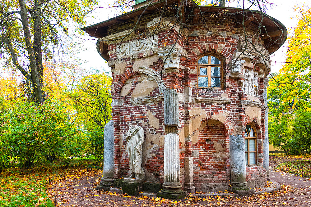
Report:
[[160,75],[156,71],[148,67],[139,67],[137,71],[134,71],[133,68],[131,67],[131,68],[126,69],[124,73],[120,76],[120,79],[115,86],[116,97],[120,97],[121,89],[123,88],[124,83],[128,79],[130,79],[132,76],[138,75],[138,74],[146,74],[148,76],[152,76],[156,80],[159,86],[160,93],[164,93],[165,86],[161,80]]

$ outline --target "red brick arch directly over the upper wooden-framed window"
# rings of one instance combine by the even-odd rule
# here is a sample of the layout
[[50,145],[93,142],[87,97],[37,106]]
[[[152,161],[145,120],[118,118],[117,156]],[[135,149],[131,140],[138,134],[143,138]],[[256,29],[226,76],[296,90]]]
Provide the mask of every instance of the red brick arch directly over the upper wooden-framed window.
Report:
[[210,44],[201,44],[198,46],[198,52],[197,51],[192,51],[193,55],[195,57],[202,55],[207,52],[214,52],[215,54],[220,55],[224,59],[227,59],[230,57],[230,50],[221,45],[221,44],[215,44],[215,43],[210,43]]

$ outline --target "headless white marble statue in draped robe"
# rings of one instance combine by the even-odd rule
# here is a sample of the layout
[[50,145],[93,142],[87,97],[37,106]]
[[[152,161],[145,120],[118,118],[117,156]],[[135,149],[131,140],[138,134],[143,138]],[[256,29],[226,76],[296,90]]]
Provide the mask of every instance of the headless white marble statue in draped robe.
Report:
[[142,143],[145,141],[144,129],[140,126],[131,126],[126,133],[128,161],[132,174],[128,178],[144,179],[142,169]]

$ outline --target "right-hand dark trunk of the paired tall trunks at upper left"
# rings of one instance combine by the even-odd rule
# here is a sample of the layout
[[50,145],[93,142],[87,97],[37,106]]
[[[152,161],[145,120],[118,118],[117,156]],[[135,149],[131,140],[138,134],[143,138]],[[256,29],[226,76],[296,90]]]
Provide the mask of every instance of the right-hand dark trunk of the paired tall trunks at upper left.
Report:
[[45,94],[43,91],[44,84],[43,84],[43,64],[42,64],[42,40],[41,40],[41,33],[42,33],[42,24],[41,24],[41,9],[39,8],[38,1],[35,0],[35,8],[32,19],[34,20],[34,54],[35,54],[35,61],[37,65],[38,71],[38,78],[40,83],[40,88],[42,92],[42,98],[45,101]]

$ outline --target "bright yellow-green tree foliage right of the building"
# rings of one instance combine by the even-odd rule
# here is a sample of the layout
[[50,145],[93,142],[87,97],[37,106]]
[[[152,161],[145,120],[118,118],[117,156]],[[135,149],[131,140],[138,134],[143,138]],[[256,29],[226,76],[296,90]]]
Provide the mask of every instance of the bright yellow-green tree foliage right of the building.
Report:
[[285,154],[310,152],[311,111],[311,10],[301,18],[289,39],[286,64],[272,74],[269,98],[269,142]]

